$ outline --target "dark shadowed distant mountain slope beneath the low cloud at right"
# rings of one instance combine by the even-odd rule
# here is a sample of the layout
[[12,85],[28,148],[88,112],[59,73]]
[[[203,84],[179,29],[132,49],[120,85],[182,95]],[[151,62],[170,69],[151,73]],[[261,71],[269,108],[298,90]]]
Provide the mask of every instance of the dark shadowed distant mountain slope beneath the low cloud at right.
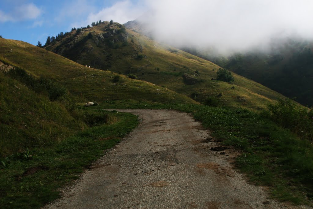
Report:
[[230,56],[221,64],[303,105],[313,106],[313,43],[286,40],[269,52]]

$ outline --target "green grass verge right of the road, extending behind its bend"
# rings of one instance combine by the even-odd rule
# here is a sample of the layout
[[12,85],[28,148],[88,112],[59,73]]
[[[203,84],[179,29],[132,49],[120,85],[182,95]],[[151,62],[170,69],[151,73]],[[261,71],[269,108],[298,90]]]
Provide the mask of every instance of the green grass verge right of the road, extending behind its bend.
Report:
[[222,144],[240,150],[236,167],[256,185],[269,186],[272,198],[312,205],[313,147],[280,128],[264,113],[243,108],[161,104],[133,100],[106,102],[95,108],[155,108],[192,112]]

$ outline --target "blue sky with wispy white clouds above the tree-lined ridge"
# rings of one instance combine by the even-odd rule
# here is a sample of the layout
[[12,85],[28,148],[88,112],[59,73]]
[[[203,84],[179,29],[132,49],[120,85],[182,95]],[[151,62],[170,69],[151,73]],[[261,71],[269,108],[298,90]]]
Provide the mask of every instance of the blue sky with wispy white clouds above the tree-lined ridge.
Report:
[[143,5],[140,0],[1,0],[0,35],[44,44],[47,36],[85,27],[99,19],[124,24],[140,16],[145,10]]

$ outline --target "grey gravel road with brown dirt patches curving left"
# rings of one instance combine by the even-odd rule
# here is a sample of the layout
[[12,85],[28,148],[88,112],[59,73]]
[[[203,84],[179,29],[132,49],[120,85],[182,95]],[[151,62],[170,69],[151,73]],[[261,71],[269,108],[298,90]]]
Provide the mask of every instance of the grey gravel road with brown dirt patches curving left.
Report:
[[217,144],[190,114],[117,111],[141,124],[45,208],[290,208],[232,169],[233,149],[211,151]]

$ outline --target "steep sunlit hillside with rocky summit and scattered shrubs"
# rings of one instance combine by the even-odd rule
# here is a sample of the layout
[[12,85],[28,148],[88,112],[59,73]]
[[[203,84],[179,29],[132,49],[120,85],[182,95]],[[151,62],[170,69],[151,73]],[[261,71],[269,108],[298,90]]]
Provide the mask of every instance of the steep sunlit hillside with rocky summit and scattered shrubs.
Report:
[[158,44],[118,23],[103,22],[79,32],[74,30],[46,49],[82,65],[134,74],[141,80],[166,86],[200,102],[213,97],[225,106],[263,109],[283,97],[236,74],[233,84],[215,81],[218,65]]

